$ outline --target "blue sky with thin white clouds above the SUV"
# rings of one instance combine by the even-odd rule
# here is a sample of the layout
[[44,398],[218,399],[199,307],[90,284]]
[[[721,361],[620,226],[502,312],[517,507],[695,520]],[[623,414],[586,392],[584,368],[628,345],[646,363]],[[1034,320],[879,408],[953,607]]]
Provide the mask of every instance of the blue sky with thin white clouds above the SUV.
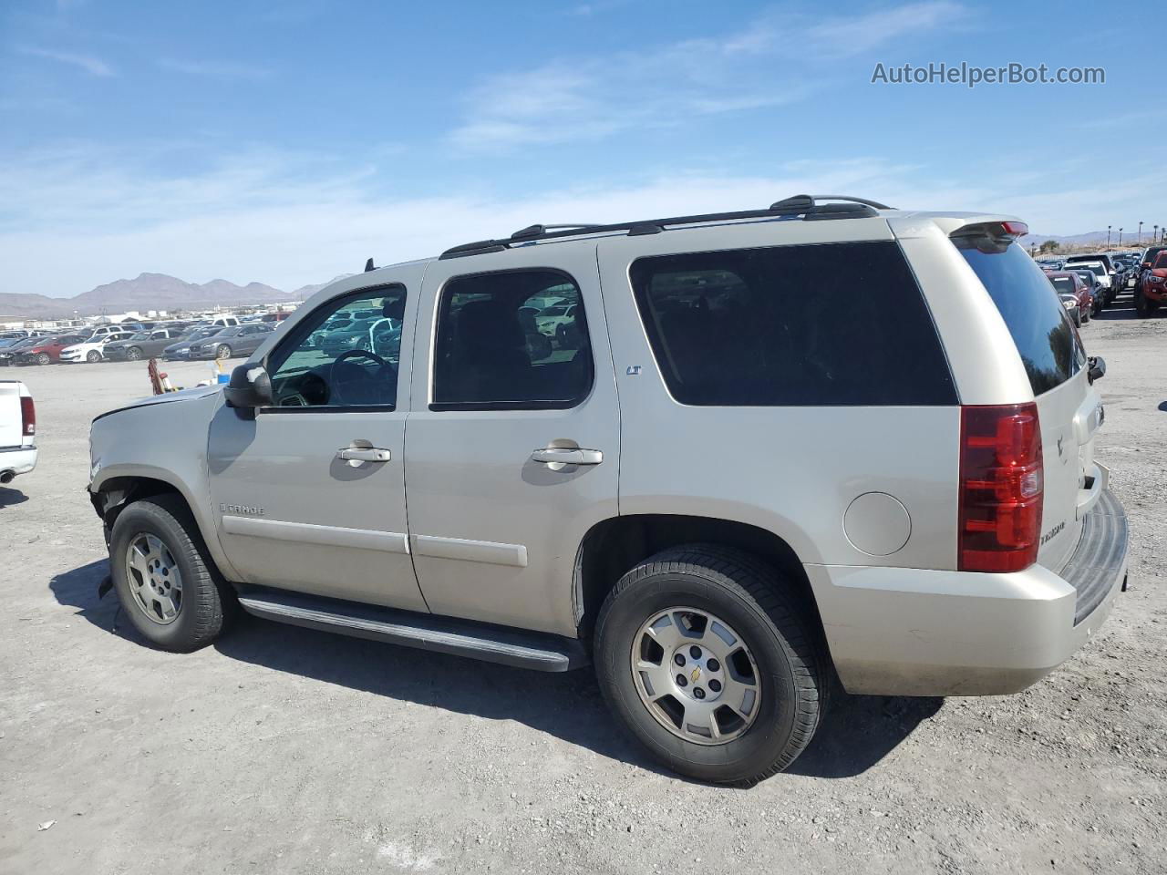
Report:
[[[294,288],[533,222],[799,192],[1149,233],[1161,9],[1114,8],[7,0],[0,292],[142,271]],[[1106,83],[875,85],[878,62]]]

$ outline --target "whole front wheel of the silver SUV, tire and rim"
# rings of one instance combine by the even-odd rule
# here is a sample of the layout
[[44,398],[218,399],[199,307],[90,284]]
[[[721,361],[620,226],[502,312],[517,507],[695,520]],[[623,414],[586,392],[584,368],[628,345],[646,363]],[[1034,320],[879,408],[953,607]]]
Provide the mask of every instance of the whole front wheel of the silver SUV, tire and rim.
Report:
[[118,514],[110,569],[134,628],[162,650],[189,652],[210,644],[236,604],[176,496],[134,502]]

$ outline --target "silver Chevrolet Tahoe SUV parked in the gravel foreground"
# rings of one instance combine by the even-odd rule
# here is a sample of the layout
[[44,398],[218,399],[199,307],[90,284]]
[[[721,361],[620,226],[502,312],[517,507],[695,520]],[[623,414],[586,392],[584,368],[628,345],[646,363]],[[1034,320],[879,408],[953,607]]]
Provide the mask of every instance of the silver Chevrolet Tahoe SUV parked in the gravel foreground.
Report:
[[[1023,690],[1126,580],[1105,363],[1026,233],[798,196],[338,280],[225,388],[93,422],[112,587],[166,650],[242,607],[591,663],[652,756],[738,785],[794,762],[836,679]],[[574,309],[533,343],[548,296]],[[317,342],[362,310],[400,331]]]

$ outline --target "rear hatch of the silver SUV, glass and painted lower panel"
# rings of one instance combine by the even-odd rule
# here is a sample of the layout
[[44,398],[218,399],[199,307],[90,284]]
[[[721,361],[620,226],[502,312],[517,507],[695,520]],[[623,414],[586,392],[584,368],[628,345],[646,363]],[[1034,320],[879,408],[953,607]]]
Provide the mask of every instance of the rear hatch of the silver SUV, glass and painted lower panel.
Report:
[[1053,284],[1018,244],[970,229],[952,242],[997,304],[1033,387],[1044,471],[1037,561],[1060,572],[1078,544],[1082,518],[1106,485],[1093,461],[1103,407],[1082,338]]

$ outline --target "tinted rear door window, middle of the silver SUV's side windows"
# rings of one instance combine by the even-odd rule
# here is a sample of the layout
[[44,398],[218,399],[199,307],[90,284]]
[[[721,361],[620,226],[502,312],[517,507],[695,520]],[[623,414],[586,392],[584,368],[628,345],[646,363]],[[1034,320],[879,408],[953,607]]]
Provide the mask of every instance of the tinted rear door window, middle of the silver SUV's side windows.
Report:
[[435,335],[431,410],[566,408],[592,388],[584,301],[558,271],[452,279]]

